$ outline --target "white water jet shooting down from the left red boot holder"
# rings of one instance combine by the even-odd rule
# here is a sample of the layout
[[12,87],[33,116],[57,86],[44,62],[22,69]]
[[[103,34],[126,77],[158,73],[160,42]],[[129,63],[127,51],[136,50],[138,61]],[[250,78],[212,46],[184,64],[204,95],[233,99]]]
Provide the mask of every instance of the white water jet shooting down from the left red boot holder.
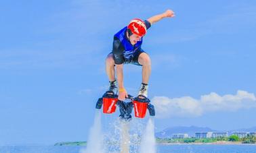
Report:
[[101,113],[100,110],[96,110],[93,126],[89,132],[89,139],[87,141],[86,149],[80,150],[80,153],[104,153],[103,148],[103,136],[101,130]]

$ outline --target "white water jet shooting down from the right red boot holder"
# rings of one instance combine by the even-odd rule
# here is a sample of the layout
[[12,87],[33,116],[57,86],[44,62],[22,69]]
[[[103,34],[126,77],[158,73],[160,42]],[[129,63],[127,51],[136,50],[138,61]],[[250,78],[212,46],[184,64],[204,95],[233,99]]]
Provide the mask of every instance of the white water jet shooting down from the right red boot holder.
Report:
[[156,153],[156,139],[154,137],[154,118],[148,120],[145,133],[142,135],[140,153]]

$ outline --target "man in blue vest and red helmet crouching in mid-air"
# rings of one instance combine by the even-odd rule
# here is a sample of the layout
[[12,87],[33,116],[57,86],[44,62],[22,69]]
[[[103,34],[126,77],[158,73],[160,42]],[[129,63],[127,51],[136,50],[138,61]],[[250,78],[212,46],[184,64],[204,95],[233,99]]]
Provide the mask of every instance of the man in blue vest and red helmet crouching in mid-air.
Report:
[[[114,34],[112,53],[106,58],[106,73],[110,82],[108,91],[118,94],[119,100],[125,100],[127,97],[127,91],[123,84],[123,65],[128,63],[142,66],[142,85],[138,96],[142,98],[143,96],[144,98],[148,96],[148,80],[151,71],[151,61],[148,54],[141,48],[142,37],[145,36],[148,28],[150,28],[152,24],[163,18],[173,17],[174,12],[167,9],[164,13],[152,16],[145,21],[133,19],[128,26]],[[116,71],[114,69],[115,66]],[[118,88],[117,83],[119,86]]]

